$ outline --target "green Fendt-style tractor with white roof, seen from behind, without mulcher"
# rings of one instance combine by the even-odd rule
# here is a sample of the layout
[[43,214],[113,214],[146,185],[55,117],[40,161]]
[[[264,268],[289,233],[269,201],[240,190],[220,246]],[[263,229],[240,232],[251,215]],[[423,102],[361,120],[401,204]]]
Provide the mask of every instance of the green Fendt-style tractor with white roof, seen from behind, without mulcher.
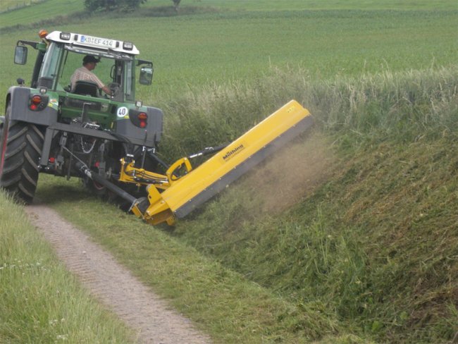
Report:
[[[27,46],[37,57],[30,87],[18,79],[19,85],[6,94],[5,116],[0,116],[0,187],[30,203],[39,173],[49,173],[80,177],[104,194],[106,186],[85,177],[81,166],[99,180],[116,183],[119,161],[126,156],[137,168],[163,164],[154,154],[163,113],[135,98],[137,75],[141,85],[151,85],[151,61],[138,59],[131,42],[43,30],[39,37],[39,42],[20,40],[16,46],[15,63],[26,63]],[[99,62],[96,73],[109,80],[107,94],[92,81],[71,80],[85,56]]]

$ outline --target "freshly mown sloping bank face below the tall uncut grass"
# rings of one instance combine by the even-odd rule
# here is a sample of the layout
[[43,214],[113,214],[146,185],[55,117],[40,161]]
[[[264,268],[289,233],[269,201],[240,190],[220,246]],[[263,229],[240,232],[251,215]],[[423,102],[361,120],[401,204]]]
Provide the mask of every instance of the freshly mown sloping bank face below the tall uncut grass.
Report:
[[[277,167],[175,235],[287,300],[321,302],[381,343],[446,343],[458,326],[455,153],[447,141],[386,144],[339,160],[336,176],[312,192],[273,196],[276,176],[287,173]],[[303,173],[304,185],[319,183]],[[290,195],[302,202],[285,210]]]

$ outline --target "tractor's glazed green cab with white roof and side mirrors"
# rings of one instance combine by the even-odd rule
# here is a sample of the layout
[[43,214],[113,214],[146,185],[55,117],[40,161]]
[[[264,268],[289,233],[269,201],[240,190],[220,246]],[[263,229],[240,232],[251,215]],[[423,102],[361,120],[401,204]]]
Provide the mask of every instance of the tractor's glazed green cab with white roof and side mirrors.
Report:
[[[47,91],[58,93],[61,121],[64,123],[80,116],[83,110],[87,112],[87,118],[101,125],[116,121],[118,109],[126,108],[120,103],[135,104],[136,69],[140,68],[140,84],[151,85],[153,64],[137,59],[140,52],[131,42],[61,31],[49,34],[41,31],[39,35],[41,43],[18,42],[15,62],[25,63],[27,44],[39,51],[32,87],[44,87]],[[92,73],[109,88],[110,95],[88,80],[78,80],[71,85],[72,75],[82,67],[85,56],[97,59],[97,68]]]

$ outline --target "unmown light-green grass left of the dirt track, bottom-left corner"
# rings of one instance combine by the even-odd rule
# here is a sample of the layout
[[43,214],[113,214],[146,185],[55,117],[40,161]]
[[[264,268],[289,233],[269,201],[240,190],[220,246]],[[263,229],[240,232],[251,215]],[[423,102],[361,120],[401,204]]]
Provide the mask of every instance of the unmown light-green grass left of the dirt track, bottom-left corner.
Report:
[[0,190],[1,343],[132,343]]

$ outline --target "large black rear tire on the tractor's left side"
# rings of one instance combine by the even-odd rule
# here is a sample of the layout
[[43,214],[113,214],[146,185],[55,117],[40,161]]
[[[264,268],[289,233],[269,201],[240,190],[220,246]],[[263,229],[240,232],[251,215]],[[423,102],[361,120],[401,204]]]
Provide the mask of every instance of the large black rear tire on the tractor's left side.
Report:
[[37,189],[43,133],[37,125],[9,121],[9,106],[0,139],[0,187],[26,204]]

